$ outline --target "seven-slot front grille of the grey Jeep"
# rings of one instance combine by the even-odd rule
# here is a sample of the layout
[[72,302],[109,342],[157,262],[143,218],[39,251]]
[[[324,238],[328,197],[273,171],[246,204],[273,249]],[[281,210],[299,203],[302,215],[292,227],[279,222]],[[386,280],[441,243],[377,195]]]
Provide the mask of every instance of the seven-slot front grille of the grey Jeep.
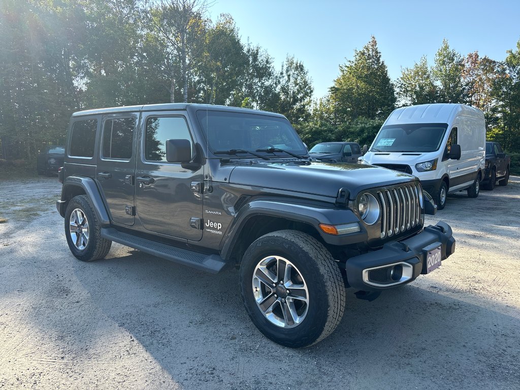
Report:
[[377,191],[381,204],[381,238],[392,237],[417,226],[421,219],[422,190],[419,184]]

